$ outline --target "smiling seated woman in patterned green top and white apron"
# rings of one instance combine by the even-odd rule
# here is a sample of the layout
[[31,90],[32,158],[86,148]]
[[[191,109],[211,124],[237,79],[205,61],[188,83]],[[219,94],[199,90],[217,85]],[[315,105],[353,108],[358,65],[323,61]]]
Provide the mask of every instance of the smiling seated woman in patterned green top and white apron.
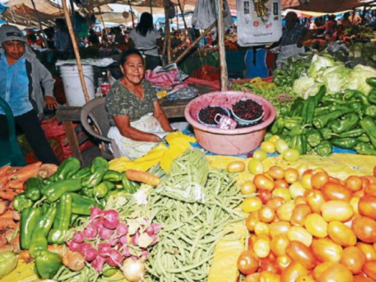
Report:
[[161,141],[156,133],[173,129],[158,103],[152,84],[144,79],[141,53],[135,49],[124,51],[120,69],[123,77],[115,81],[106,96],[111,124],[108,137],[115,140],[121,154],[137,158]]

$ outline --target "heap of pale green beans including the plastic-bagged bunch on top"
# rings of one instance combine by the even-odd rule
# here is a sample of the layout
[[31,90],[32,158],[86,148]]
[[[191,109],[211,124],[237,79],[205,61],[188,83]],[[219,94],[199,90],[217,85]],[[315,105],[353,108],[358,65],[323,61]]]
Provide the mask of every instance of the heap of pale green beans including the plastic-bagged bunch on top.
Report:
[[[187,193],[187,187],[200,187],[203,197],[195,200],[197,190]],[[174,160],[148,197],[153,222],[163,226],[148,256],[149,280],[206,281],[215,245],[232,232],[224,226],[244,220],[234,210],[242,199],[227,171],[209,170],[200,150],[188,150]]]

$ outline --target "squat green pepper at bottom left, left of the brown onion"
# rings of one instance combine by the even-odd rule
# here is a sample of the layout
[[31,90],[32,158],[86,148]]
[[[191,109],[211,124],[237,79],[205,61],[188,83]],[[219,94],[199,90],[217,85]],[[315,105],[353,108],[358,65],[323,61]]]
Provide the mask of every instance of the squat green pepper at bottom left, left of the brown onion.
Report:
[[51,279],[62,266],[62,257],[59,254],[42,251],[35,259],[35,269],[43,279]]

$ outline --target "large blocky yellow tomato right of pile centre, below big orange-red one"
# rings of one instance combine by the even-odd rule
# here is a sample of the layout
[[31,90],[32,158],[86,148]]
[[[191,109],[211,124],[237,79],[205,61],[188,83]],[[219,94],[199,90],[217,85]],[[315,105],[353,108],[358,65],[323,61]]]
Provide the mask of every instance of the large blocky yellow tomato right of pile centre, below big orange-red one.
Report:
[[321,214],[326,222],[333,220],[346,222],[353,216],[354,211],[348,202],[333,200],[321,205]]

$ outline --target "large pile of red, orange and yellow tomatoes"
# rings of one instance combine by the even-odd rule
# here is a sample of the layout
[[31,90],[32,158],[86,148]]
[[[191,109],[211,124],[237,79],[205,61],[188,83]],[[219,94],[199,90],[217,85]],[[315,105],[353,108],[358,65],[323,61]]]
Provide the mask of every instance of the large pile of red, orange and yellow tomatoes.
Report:
[[241,187],[248,213],[243,282],[376,281],[374,175],[272,166]]

